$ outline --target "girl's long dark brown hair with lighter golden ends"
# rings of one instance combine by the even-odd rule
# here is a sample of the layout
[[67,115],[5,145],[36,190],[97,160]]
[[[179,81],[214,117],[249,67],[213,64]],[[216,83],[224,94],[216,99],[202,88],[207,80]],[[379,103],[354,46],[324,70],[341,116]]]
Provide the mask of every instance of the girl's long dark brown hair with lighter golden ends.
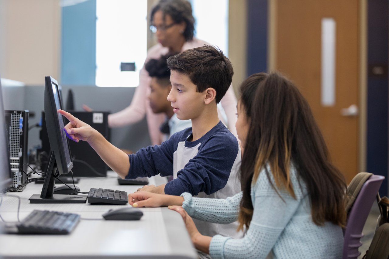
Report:
[[[343,175],[331,163],[324,138],[307,100],[279,73],[256,73],[240,86],[240,104],[249,121],[240,180],[239,229],[250,225],[253,205],[251,184],[269,165],[276,186],[295,198],[289,168],[293,163],[307,186],[312,220],[344,226],[346,219]],[[269,178],[270,180],[270,178]]]

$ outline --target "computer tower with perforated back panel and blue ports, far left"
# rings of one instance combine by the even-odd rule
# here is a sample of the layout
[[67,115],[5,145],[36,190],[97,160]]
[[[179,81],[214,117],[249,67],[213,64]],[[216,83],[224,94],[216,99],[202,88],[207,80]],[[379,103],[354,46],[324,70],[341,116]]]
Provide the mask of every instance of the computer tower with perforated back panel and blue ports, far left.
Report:
[[[28,111],[5,110],[5,128],[7,131],[8,154],[12,172],[10,187],[16,188],[26,180],[25,173],[28,163]],[[19,188],[17,191],[22,191]]]

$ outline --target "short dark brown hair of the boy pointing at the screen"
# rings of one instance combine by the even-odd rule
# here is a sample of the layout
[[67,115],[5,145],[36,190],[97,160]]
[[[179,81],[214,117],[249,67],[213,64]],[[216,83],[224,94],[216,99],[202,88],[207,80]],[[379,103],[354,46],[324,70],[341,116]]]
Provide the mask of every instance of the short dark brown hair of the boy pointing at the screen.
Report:
[[232,82],[234,70],[230,59],[219,48],[205,45],[188,49],[168,58],[168,68],[184,73],[201,93],[208,87],[216,90],[216,103],[219,103]]

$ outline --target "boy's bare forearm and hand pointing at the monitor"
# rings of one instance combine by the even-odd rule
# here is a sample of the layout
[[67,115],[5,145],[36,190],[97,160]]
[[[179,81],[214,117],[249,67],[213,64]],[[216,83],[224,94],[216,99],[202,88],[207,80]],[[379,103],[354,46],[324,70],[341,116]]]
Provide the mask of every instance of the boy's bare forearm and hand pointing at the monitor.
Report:
[[64,110],[58,110],[58,112],[69,120],[69,123],[63,130],[70,140],[74,142],[79,142],[79,140],[88,142],[112,170],[121,178],[124,179],[126,177],[128,170],[130,170],[130,161],[126,153],[110,144],[100,132],[77,119],[69,112]]

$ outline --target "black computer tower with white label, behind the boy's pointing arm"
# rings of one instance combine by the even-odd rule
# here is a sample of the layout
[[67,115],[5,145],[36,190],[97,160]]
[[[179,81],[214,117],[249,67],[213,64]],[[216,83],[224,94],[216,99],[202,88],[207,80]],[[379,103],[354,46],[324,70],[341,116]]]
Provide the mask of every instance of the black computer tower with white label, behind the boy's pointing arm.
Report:
[[[100,132],[103,137],[109,140],[109,128],[108,128],[108,114],[109,112],[84,112],[84,111],[70,111],[72,115],[89,124],[91,127]],[[69,122],[65,117],[65,125]],[[45,156],[50,151],[49,138],[47,136],[46,121],[44,112],[42,112],[42,130],[40,131],[40,140],[42,141],[42,149],[38,152],[40,154],[40,163],[42,170],[46,170],[47,159],[44,160]],[[86,141],[79,141],[78,143],[69,140],[70,155],[73,159],[72,168],[74,177],[104,177],[107,176],[108,166],[100,158],[100,156],[93,150],[93,148]],[[47,158],[47,156],[46,156]],[[91,166],[93,170],[89,167]],[[67,175],[68,176],[68,175]]]

